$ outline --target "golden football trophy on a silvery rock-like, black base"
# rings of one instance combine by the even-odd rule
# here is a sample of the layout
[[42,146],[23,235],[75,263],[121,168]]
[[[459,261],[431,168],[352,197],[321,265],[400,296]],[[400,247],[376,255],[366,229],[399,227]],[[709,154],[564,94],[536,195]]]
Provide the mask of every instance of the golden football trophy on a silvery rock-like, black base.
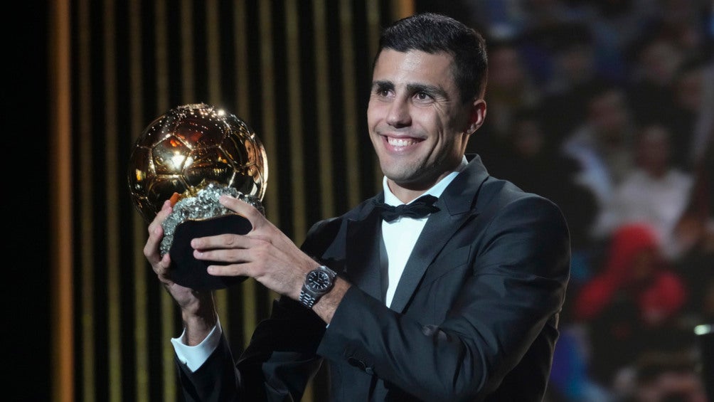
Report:
[[247,218],[218,203],[227,194],[265,213],[268,179],[263,144],[241,119],[206,104],[171,109],[146,126],[129,159],[129,193],[146,222],[164,201],[173,211],[163,223],[161,255],[171,255],[171,280],[196,290],[227,288],[245,276],[211,276],[216,261],[193,258],[191,239],[251,231]]

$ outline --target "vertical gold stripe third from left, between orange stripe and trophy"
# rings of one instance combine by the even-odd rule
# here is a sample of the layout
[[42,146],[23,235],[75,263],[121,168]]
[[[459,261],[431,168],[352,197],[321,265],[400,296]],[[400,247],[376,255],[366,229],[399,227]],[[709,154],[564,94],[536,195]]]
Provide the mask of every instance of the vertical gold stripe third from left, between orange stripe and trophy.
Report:
[[[116,21],[114,1],[104,0],[104,158],[106,178],[107,340],[109,400],[121,401],[121,278],[119,276],[119,194],[117,192]],[[96,191],[98,192],[98,191]],[[96,201],[96,200],[95,200]]]

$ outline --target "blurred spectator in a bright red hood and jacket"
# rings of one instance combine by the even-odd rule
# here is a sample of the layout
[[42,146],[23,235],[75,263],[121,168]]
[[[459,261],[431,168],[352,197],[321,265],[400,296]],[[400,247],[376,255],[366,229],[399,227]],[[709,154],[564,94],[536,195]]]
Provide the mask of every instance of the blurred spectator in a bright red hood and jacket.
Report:
[[642,351],[669,341],[685,302],[684,283],[661,255],[655,231],[644,223],[618,228],[605,266],[573,306],[574,320],[588,328],[595,381],[612,386]]

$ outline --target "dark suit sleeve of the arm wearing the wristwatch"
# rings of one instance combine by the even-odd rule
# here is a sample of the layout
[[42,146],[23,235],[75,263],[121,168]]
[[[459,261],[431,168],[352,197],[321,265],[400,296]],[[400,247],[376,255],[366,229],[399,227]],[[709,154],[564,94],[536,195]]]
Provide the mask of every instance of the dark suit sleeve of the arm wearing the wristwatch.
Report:
[[352,287],[318,353],[426,400],[457,401],[496,389],[543,331],[552,348],[570,265],[562,213],[527,196],[470,224],[482,227],[473,230],[468,277],[443,289],[455,294],[442,322],[419,322]]

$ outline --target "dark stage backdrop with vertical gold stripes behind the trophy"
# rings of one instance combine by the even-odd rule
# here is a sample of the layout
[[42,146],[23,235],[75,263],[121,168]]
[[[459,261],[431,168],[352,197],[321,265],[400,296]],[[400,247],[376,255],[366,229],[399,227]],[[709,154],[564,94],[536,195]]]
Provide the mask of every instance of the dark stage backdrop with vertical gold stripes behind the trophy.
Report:
[[[381,26],[413,5],[58,0],[50,9],[52,393],[176,401],[169,338],[181,321],[142,253],[131,146],[181,104],[236,114],[266,147],[266,215],[299,244],[312,223],[381,186],[365,121],[372,56]],[[216,293],[240,349],[276,295],[252,279]],[[323,401],[324,381],[304,400]]]

